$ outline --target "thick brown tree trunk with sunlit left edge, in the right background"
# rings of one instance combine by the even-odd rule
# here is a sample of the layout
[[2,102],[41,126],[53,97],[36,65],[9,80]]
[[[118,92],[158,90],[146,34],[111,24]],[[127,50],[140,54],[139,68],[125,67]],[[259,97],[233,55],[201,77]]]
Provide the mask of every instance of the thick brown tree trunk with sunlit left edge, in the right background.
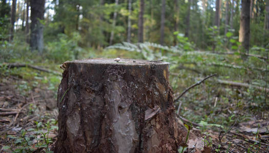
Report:
[[250,48],[250,6],[251,0],[242,0],[239,42],[242,43],[242,47],[247,53],[249,53]]

